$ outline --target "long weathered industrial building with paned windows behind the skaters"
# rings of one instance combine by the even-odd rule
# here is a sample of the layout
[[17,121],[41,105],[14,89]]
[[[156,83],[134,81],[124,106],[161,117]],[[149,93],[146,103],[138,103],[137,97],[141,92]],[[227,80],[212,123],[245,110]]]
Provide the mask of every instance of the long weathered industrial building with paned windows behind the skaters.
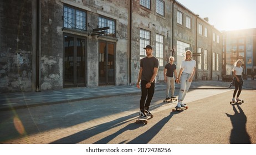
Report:
[[1,1],[0,90],[134,85],[143,49],[153,46],[163,81],[187,49],[195,80],[222,75],[222,32],[177,1]]

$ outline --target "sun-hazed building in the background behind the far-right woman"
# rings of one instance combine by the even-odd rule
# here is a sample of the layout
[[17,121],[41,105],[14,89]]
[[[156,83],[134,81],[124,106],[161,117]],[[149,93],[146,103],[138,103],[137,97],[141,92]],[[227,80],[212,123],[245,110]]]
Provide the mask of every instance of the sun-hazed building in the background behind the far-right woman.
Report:
[[233,75],[238,59],[243,61],[243,74],[256,72],[256,29],[223,32],[223,74]]

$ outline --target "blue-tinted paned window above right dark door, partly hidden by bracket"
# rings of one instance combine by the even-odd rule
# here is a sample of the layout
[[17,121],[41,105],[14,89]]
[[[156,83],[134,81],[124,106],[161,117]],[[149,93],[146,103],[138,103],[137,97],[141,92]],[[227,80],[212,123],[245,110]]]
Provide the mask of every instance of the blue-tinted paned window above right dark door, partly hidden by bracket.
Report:
[[115,20],[107,19],[104,17],[99,17],[98,21],[99,28],[109,27],[109,29],[104,30],[106,33],[104,35],[109,35],[115,37]]

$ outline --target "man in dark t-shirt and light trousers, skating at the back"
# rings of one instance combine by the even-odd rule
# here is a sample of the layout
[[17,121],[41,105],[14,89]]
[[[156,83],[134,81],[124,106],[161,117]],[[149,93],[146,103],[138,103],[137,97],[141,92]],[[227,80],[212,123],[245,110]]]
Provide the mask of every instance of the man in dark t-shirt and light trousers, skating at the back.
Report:
[[[163,75],[165,76],[165,81],[167,82],[167,87],[165,91],[165,97],[166,100],[175,98],[174,97],[174,90],[175,90],[175,81],[177,82],[177,66],[173,63],[174,57],[170,56],[168,64],[165,65],[165,70],[163,70]],[[173,73],[175,74],[175,77],[173,76]],[[175,79],[176,78],[176,79]],[[169,91],[171,87],[171,98],[169,97]]]

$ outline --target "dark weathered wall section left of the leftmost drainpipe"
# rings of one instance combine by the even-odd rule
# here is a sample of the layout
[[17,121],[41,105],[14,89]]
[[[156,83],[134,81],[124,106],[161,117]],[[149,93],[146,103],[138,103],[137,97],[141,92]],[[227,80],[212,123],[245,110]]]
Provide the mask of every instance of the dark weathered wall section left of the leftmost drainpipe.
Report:
[[32,1],[0,1],[0,92],[32,90]]

